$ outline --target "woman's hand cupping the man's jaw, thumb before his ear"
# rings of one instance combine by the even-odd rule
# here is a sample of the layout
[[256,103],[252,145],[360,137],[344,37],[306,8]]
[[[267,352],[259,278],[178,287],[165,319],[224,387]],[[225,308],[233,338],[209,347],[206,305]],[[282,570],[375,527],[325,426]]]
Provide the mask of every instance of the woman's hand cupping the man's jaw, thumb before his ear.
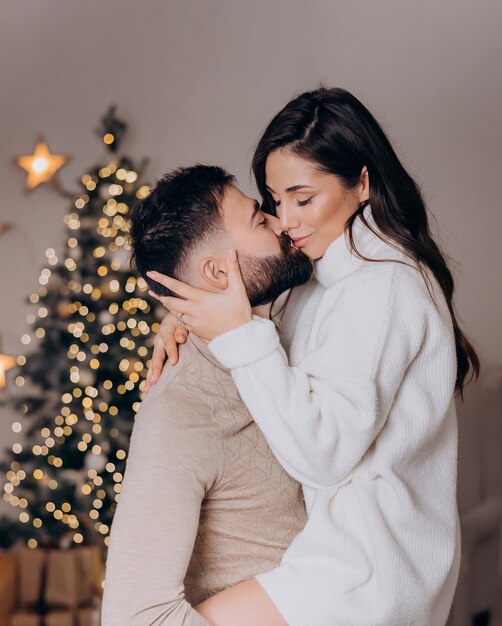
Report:
[[158,296],[152,291],[149,293],[178,319],[181,317],[181,323],[188,330],[201,339],[211,341],[253,319],[235,250],[229,252],[227,265],[228,287],[224,291],[213,293],[191,287],[159,272],[148,272],[150,278],[180,297]]

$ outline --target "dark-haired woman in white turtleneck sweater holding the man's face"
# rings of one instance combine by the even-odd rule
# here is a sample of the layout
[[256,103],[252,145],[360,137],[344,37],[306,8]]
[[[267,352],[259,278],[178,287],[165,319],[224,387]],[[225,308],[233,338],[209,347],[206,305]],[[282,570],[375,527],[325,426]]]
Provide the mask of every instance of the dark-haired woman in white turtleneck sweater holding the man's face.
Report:
[[280,341],[253,318],[235,253],[224,294],[151,278],[231,369],[309,519],[279,568],[197,609],[216,626],[444,624],[460,548],[453,396],[479,361],[420,191],[341,89],[286,105],[253,170],[263,209],[315,263]]

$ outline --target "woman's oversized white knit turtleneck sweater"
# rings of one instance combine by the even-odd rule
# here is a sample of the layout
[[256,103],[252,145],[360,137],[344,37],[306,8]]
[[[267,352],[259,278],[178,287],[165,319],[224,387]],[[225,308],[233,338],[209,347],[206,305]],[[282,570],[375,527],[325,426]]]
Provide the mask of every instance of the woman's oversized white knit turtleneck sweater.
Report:
[[305,529],[257,579],[290,626],[442,626],[460,555],[452,321],[433,277],[435,302],[361,218],[354,238],[391,262],[342,235],[280,338],[256,318],[209,344],[304,489]]

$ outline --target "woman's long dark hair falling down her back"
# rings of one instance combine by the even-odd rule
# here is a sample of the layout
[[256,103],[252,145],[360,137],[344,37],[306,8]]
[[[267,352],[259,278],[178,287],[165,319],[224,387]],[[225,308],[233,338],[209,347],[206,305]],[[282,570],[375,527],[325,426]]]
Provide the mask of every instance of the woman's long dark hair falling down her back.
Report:
[[[321,171],[338,176],[348,189],[357,185],[363,167],[367,167],[369,204],[377,227],[387,241],[404,249],[418,263],[424,278],[423,268],[428,268],[444,293],[455,333],[455,391],[462,396],[469,371],[471,379],[479,376],[479,359],[457,322],[453,276],[432,239],[420,189],[402,166],[376,119],[344,89],[321,87],[289,102],[268,125],[253,157],[263,210],[272,214],[276,207],[267,191],[265,164],[271,152],[286,146]],[[358,215],[362,217],[366,204],[361,204],[346,224],[351,247],[360,257],[354,245],[352,225]]]

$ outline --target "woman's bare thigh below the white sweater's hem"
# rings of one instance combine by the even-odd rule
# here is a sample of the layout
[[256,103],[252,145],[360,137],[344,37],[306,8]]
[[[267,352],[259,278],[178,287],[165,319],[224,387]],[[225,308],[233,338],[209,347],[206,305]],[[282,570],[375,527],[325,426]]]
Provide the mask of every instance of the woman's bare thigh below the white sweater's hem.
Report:
[[213,626],[288,626],[255,578],[229,587],[195,608]]

